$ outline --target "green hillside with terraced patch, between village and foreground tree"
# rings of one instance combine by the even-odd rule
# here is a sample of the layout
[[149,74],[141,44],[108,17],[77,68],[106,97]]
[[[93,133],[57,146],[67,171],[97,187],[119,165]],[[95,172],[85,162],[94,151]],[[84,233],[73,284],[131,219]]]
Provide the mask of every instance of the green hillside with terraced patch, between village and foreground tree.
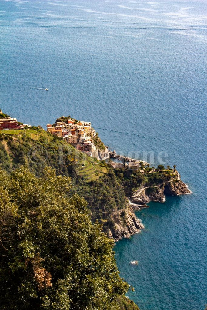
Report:
[[125,194],[115,177],[114,170],[106,163],[89,157],[63,139],[31,127],[11,135],[0,132],[0,167],[8,172],[24,165],[41,177],[47,166],[56,169],[57,175],[70,176],[74,187],[88,201],[92,219],[106,219],[117,209],[126,207]]

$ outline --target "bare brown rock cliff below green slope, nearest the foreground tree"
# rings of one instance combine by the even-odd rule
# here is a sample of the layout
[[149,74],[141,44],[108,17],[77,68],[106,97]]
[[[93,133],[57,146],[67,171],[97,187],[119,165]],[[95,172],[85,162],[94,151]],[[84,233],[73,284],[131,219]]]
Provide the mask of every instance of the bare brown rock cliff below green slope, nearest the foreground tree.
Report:
[[105,230],[108,237],[114,238],[115,241],[124,237],[128,238],[144,228],[144,225],[137,219],[131,206],[111,214],[111,220],[113,224],[110,224]]

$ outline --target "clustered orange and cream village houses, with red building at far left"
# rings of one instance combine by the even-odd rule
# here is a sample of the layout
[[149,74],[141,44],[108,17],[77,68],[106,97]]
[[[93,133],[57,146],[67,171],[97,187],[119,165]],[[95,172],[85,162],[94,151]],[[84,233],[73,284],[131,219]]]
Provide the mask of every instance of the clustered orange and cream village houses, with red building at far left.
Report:
[[[10,117],[0,110],[0,130],[19,130],[28,127],[31,126],[17,122],[15,117]],[[58,118],[53,125],[47,124],[47,132],[50,132],[52,135],[61,137],[65,140],[65,142],[73,145],[76,149],[90,157],[96,157],[98,148],[101,147],[103,150],[105,149],[105,152],[102,152],[102,157],[100,158],[100,156],[98,156],[97,159],[117,159],[119,162],[108,162],[108,164],[113,168],[121,168],[125,166],[129,170],[135,171],[140,169],[140,161],[137,161],[133,158],[117,155],[115,151],[109,152],[106,146],[101,142],[101,139],[98,137],[96,130],[92,128],[91,122],[78,121],[74,118],[71,118],[70,116],[63,116]],[[143,174],[144,170],[141,169],[140,172]]]

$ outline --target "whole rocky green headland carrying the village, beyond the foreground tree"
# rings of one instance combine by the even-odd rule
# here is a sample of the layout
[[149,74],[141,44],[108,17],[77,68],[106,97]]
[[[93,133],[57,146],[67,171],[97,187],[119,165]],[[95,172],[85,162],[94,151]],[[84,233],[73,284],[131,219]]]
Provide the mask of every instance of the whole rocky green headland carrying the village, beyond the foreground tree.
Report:
[[[6,114],[2,115],[4,117]],[[91,152],[82,148],[84,142],[80,141],[78,135],[79,130],[83,128],[90,128],[89,133],[84,133],[84,142],[89,145]],[[77,130],[77,136],[70,135],[70,131],[74,130]],[[60,132],[64,136],[60,137]],[[70,139],[75,139],[74,137],[79,138],[79,144],[70,144]],[[36,150],[35,158],[38,158],[41,165],[37,165],[34,158],[33,161],[28,160],[31,149]],[[61,165],[60,150],[63,152]],[[81,152],[80,150],[85,153],[84,162],[76,160],[75,156]],[[2,130],[0,151],[0,168],[3,170],[11,172],[27,162],[29,169],[38,177],[43,175],[46,166],[56,169],[57,175],[70,176],[73,182],[71,195],[78,193],[86,199],[92,221],[98,220],[102,223],[108,237],[115,241],[129,237],[144,228],[136,217],[135,210],[148,207],[150,201],[163,202],[165,196],[190,193],[186,184],[181,181],[176,166],[174,170],[169,166],[165,169],[162,165],[151,168],[146,162],[118,155],[115,151],[110,152],[92,129],[90,122],[79,122],[70,116],[57,119],[54,125],[47,124],[47,132],[34,126],[17,130],[15,133],[9,128],[6,131]],[[92,156],[88,156],[89,153],[92,153]],[[107,165],[104,162],[103,159],[108,157],[136,164],[133,166],[124,163],[120,169],[116,169],[110,163]],[[131,166],[136,170],[131,169]]]

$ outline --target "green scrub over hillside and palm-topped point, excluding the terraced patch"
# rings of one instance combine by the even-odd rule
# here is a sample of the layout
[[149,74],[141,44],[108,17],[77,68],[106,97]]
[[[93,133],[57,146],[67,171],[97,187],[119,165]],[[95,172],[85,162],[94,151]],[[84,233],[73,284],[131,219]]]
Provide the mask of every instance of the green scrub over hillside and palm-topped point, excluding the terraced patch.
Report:
[[[105,173],[90,182],[86,181],[79,173],[82,163],[90,162],[94,168],[101,166],[92,158],[75,150],[63,139],[32,127],[34,134],[10,136],[0,134],[0,167],[6,171],[12,171],[25,162],[31,172],[41,177],[47,166],[56,169],[57,175],[70,176],[73,188],[70,194],[78,193],[88,202],[92,212],[92,220],[98,219],[104,225],[108,225],[111,212],[126,208],[125,194],[128,191],[136,191],[140,187],[161,184],[172,178],[170,171],[150,172],[142,175],[140,171],[131,171],[126,168],[112,169],[106,165]],[[27,131],[28,133],[28,131]],[[78,157],[78,158],[77,158]]]

